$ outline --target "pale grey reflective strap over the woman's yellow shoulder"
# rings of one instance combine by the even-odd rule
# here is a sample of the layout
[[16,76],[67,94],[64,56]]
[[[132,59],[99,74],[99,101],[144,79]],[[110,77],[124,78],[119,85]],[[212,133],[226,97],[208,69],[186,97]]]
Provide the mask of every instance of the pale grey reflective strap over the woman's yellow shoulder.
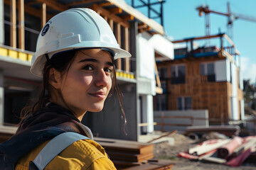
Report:
[[73,144],[73,142],[89,139],[89,137],[85,137],[84,135],[80,135],[76,132],[63,132],[54,137],[45,147],[43,147],[36,159],[33,160],[33,163],[39,170],[43,170],[54,157],[69,145]]

